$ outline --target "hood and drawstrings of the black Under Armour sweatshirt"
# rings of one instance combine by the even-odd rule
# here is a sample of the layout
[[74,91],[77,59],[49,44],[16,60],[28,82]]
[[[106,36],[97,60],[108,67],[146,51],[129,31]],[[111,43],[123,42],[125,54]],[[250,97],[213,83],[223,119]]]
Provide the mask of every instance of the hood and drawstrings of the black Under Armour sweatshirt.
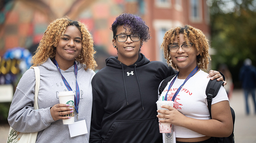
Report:
[[140,67],[140,66],[148,64],[150,62],[149,59],[147,59],[143,54],[140,53],[138,60],[134,64],[127,66],[127,65],[121,63],[120,61],[118,61],[117,58],[118,57],[109,57],[109,58],[107,58],[106,59],[106,66],[114,67],[114,68],[117,68],[117,69],[122,69],[122,71],[123,71],[123,83],[124,83],[125,97],[126,97],[127,105],[129,105],[129,103],[128,103],[126,85],[125,85],[124,69],[127,68],[127,67],[133,67],[134,68],[135,75],[136,75],[137,82],[138,82],[138,86],[139,86],[139,90],[140,90],[141,105],[142,105],[142,108],[144,110],[143,100],[142,100],[142,93],[141,93],[141,88],[140,88],[138,75],[137,75],[137,72],[136,72],[136,67]]

